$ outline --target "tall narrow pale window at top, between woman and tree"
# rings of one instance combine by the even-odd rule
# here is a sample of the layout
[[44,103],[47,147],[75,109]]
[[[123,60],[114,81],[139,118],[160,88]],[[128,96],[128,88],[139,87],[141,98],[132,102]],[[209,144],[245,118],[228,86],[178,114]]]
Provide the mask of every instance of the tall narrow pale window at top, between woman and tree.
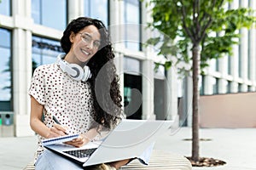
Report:
[[139,0],[125,0],[125,48],[141,50],[141,3]]

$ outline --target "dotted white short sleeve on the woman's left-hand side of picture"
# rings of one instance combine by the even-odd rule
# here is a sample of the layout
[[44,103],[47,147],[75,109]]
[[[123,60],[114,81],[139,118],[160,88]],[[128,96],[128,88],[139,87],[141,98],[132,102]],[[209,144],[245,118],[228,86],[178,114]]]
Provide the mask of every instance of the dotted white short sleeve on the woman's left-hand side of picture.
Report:
[[28,94],[38,101],[39,104],[45,105],[45,84],[44,71],[39,66],[33,73],[31,86]]

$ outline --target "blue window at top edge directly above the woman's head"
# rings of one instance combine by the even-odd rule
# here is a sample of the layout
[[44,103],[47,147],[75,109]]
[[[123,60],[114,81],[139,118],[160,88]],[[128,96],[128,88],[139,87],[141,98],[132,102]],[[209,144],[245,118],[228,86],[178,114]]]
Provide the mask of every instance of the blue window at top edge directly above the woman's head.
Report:
[[102,20],[108,26],[108,0],[84,0],[84,15]]

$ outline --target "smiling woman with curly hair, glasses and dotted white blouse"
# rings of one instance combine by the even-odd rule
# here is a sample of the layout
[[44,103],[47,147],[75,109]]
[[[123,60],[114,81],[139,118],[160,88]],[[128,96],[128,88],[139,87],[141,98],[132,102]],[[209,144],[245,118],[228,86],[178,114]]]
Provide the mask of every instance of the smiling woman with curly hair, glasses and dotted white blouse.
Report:
[[[81,169],[45,150],[42,139],[79,133],[78,139],[66,144],[80,147],[98,139],[102,130],[111,130],[121,119],[113,48],[102,21],[86,17],[73,20],[63,32],[61,48],[65,54],[59,55],[55,64],[40,65],[34,71],[29,90],[30,124],[39,137],[36,169]],[[115,169],[128,161],[94,168]]]

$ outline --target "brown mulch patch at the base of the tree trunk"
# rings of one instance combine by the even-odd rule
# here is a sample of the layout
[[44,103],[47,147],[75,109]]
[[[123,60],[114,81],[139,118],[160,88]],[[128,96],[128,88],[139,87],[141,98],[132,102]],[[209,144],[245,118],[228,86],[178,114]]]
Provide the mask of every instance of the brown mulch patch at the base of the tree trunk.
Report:
[[199,161],[193,161],[191,156],[186,156],[186,158],[191,162],[192,167],[216,167],[226,164],[225,161],[214,159],[212,157],[200,157]]

